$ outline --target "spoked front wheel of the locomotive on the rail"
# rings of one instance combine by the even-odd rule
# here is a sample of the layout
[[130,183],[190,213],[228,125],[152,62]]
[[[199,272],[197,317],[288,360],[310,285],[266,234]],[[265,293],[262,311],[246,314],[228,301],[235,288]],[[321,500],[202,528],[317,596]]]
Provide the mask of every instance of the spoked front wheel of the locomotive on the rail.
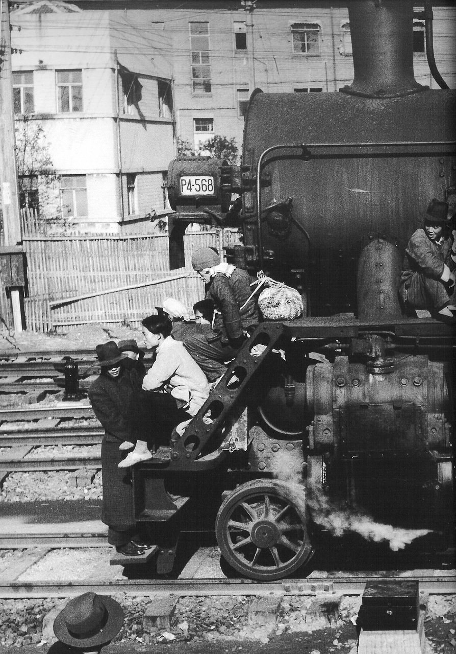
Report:
[[255,479],[233,490],[217,514],[221,555],[243,576],[282,579],[312,555],[302,494],[283,481]]

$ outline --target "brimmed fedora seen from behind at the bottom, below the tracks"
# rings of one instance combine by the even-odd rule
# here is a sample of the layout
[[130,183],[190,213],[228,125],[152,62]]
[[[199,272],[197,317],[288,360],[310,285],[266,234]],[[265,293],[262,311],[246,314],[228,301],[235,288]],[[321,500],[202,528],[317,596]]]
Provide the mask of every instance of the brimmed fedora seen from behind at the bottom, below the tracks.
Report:
[[123,609],[107,595],[84,593],[74,597],[54,620],[54,634],[73,647],[97,647],[120,632]]

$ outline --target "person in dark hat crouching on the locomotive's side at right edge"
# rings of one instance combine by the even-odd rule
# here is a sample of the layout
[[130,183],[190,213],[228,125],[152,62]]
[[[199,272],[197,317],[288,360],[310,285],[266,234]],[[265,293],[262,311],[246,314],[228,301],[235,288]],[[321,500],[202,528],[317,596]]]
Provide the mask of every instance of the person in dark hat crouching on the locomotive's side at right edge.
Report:
[[449,237],[451,218],[446,202],[431,200],[423,228],[408,241],[399,288],[408,306],[428,309],[443,322],[454,322],[456,317],[456,245]]

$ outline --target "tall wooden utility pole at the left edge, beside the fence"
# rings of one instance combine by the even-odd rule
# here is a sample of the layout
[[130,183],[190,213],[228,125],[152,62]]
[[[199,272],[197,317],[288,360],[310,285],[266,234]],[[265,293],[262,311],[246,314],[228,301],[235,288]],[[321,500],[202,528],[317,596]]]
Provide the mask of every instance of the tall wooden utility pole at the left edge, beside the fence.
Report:
[[2,280],[10,292],[14,330],[22,332],[21,293],[24,290],[23,250],[19,213],[18,177],[14,150],[11,34],[8,0],[0,0],[0,196],[3,243],[0,247]]

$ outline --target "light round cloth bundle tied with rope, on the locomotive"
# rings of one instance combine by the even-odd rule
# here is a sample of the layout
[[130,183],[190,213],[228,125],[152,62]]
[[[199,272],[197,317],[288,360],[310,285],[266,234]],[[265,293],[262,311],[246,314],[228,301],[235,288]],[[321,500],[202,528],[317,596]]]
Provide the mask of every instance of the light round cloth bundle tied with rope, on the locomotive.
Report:
[[[263,317],[267,318],[267,320],[293,320],[293,318],[297,318],[302,314],[304,305],[299,292],[295,288],[267,277],[262,270],[257,274],[257,278],[257,281],[254,282],[258,284],[257,288],[255,288],[247,302],[261,286],[267,284],[269,288],[264,288],[258,298],[258,307]],[[247,302],[240,307],[241,310]]]

